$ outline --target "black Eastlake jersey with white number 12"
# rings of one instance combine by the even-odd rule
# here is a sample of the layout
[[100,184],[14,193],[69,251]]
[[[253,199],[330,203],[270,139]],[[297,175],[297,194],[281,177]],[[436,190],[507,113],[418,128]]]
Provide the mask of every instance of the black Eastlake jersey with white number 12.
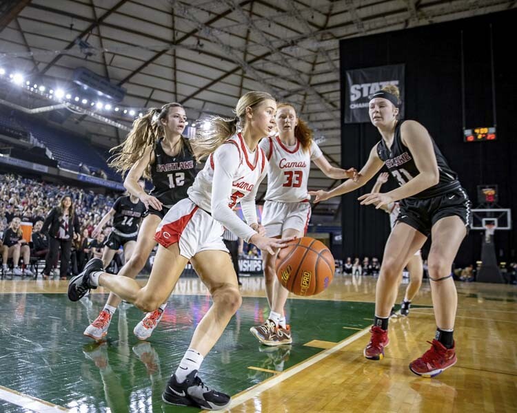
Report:
[[154,164],[151,165],[151,181],[154,188],[150,195],[167,208],[187,198],[187,189],[196,178],[196,160],[192,148],[183,138],[183,149],[176,156],[169,156],[163,150],[160,139],[154,147]]

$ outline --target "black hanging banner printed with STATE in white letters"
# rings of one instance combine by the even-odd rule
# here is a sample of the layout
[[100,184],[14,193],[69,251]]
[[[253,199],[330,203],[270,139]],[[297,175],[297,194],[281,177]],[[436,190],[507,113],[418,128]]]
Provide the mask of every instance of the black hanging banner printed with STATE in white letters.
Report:
[[[395,85],[404,102],[404,65],[367,67],[345,72],[345,123],[369,123],[368,96],[386,85]],[[404,118],[404,105],[399,118]]]

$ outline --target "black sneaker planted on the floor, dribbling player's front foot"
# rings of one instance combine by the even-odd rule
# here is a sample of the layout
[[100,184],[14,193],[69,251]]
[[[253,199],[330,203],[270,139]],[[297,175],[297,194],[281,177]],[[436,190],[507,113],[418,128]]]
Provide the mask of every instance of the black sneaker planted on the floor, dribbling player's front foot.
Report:
[[197,377],[197,370],[190,372],[183,383],[178,383],[173,374],[161,395],[165,403],[179,406],[194,406],[205,410],[222,410],[230,404],[230,396],[207,388]]

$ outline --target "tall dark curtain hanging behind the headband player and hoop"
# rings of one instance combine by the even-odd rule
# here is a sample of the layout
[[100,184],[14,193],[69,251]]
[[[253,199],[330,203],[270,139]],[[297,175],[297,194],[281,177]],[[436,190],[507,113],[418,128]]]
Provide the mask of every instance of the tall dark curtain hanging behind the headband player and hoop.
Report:
[[[340,42],[341,108],[345,109],[346,70],[405,63],[406,118],[422,123],[460,177],[477,207],[476,185],[498,184],[502,208],[516,217],[517,200],[517,72],[511,63],[517,10],[486,14],[450,23],[428,25]],[[467,128],[494,125],[490,28],[494,44],[497,140],[463,142],[461,91],[461,31],[465,59],[465,119]],[[342,114],[343,119],[343,114]],[[362,167],[380,139],[371,124],[342,125],[341,161]],[[361,207],[356,198],[368,192],[374,179],[355,193],[343,195],[343,256],[381,257],[389,220],[386,213]],[[391,178],[383,191],[392,189]],[[517,261],[517,231],[496,232],[498,261]],[[481,232],[471,231],[458,252],[456,264],[480,259]],[[424,255],[426,249],[424,248]]]

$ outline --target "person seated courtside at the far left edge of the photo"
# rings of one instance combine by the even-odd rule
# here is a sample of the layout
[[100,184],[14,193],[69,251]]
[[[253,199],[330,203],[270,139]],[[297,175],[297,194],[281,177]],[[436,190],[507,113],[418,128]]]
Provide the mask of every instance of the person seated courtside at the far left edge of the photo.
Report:
[[[21,232],[21,220],[13,218],[9,228],[3,234],[2,240],[2,266],[3,273],[9,275],[34,275],[28,264],[30,262],[30,248],[26,240],[23,240]],[[23,272],[19,268],[20,255],[23,255]],[[7,260],[12,257],[12,273],[8,271]]]

